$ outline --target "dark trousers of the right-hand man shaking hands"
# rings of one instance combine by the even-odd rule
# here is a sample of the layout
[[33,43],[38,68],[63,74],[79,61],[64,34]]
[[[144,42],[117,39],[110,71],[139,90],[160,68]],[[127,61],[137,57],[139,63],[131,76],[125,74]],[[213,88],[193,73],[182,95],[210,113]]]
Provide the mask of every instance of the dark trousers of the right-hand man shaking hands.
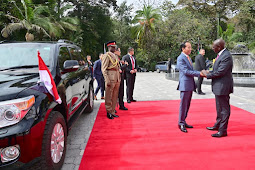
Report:
[[226,133],[230,116],[229,95],[215,95],[217,118],[214,127],[219,128],[219,132]]

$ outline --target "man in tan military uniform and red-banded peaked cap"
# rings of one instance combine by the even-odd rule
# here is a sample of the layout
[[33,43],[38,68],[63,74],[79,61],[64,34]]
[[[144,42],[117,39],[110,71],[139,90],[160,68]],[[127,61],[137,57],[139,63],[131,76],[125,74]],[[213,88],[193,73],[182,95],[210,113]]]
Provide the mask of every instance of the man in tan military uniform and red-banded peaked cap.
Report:
[[114,117],[119,117],[115,114],[115,106],[120,86],[120,65],[118,56],[114,54],[117,49],[116,42],[110,41],[106,45],[109,51],[102,57],[102,73],[105,79],[105,109],[107,117],[114,119]]

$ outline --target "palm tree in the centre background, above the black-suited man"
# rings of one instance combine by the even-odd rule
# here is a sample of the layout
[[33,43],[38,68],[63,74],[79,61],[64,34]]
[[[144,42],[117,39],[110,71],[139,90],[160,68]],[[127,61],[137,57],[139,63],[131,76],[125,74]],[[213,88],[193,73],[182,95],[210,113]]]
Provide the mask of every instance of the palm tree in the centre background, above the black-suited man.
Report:
[[143,7],[143,10],[136,11],[136,16],[133,20],[137,26],[135,26],[135,35],[138,44],[146,48],[146,44],[150,43],[151,36],[155,33],[155,21],[160,19],[158,9],[153,9],[152,6],[148,5]]

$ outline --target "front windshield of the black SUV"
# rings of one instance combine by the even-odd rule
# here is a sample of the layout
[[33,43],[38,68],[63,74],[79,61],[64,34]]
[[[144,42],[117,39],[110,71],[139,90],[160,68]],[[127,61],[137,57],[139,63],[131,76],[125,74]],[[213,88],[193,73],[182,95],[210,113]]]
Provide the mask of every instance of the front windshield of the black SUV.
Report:
[[0,44],[0,69],[38,67],[38,50],[45,64],[50,66],[53,48],[53,44],[45,43]]

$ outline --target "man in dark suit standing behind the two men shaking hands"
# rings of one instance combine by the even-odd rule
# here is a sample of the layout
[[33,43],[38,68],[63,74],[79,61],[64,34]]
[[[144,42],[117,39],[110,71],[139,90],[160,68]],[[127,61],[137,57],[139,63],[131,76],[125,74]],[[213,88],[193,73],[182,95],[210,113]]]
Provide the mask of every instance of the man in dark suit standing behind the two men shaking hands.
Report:
[[[202,71],[202,70],[205,70],[206,69],[206,65],[205,65],[205,50],[204,49],[200,49],[199,50],[199,54],[195,57],[195,70],[197,71]],[[197,80],[197,91],[195,89],[195,92],[197,92],[198,94],[201,94],[201,95],[205,95],[204,92],[202,92],[201,90],[201,85],[203,83],[203,77],[198,77],[198,80]]]

